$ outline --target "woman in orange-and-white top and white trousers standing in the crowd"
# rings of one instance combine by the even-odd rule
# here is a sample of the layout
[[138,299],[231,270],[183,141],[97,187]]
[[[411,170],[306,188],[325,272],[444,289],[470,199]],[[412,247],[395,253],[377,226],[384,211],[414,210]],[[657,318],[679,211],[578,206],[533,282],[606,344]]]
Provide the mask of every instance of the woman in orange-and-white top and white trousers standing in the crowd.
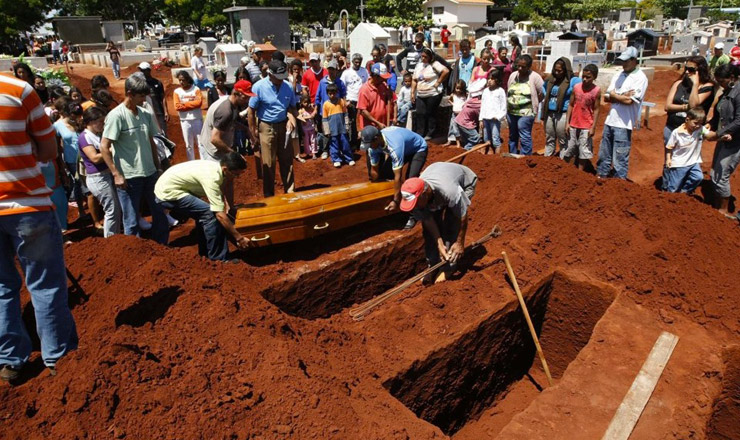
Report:
[[180,114],[180,127],[182,128],[182,137],[185,140],[185,149],[188,154],[188,160],[195,159],[195,146],[198,144],[198,135],[203,128],[203,95],[200,89],[195,86],[190,74],[181,70],[177,73],[177,80],[180,81],[180,87],[175,89],[173,97],[175,99],[175,110]]

